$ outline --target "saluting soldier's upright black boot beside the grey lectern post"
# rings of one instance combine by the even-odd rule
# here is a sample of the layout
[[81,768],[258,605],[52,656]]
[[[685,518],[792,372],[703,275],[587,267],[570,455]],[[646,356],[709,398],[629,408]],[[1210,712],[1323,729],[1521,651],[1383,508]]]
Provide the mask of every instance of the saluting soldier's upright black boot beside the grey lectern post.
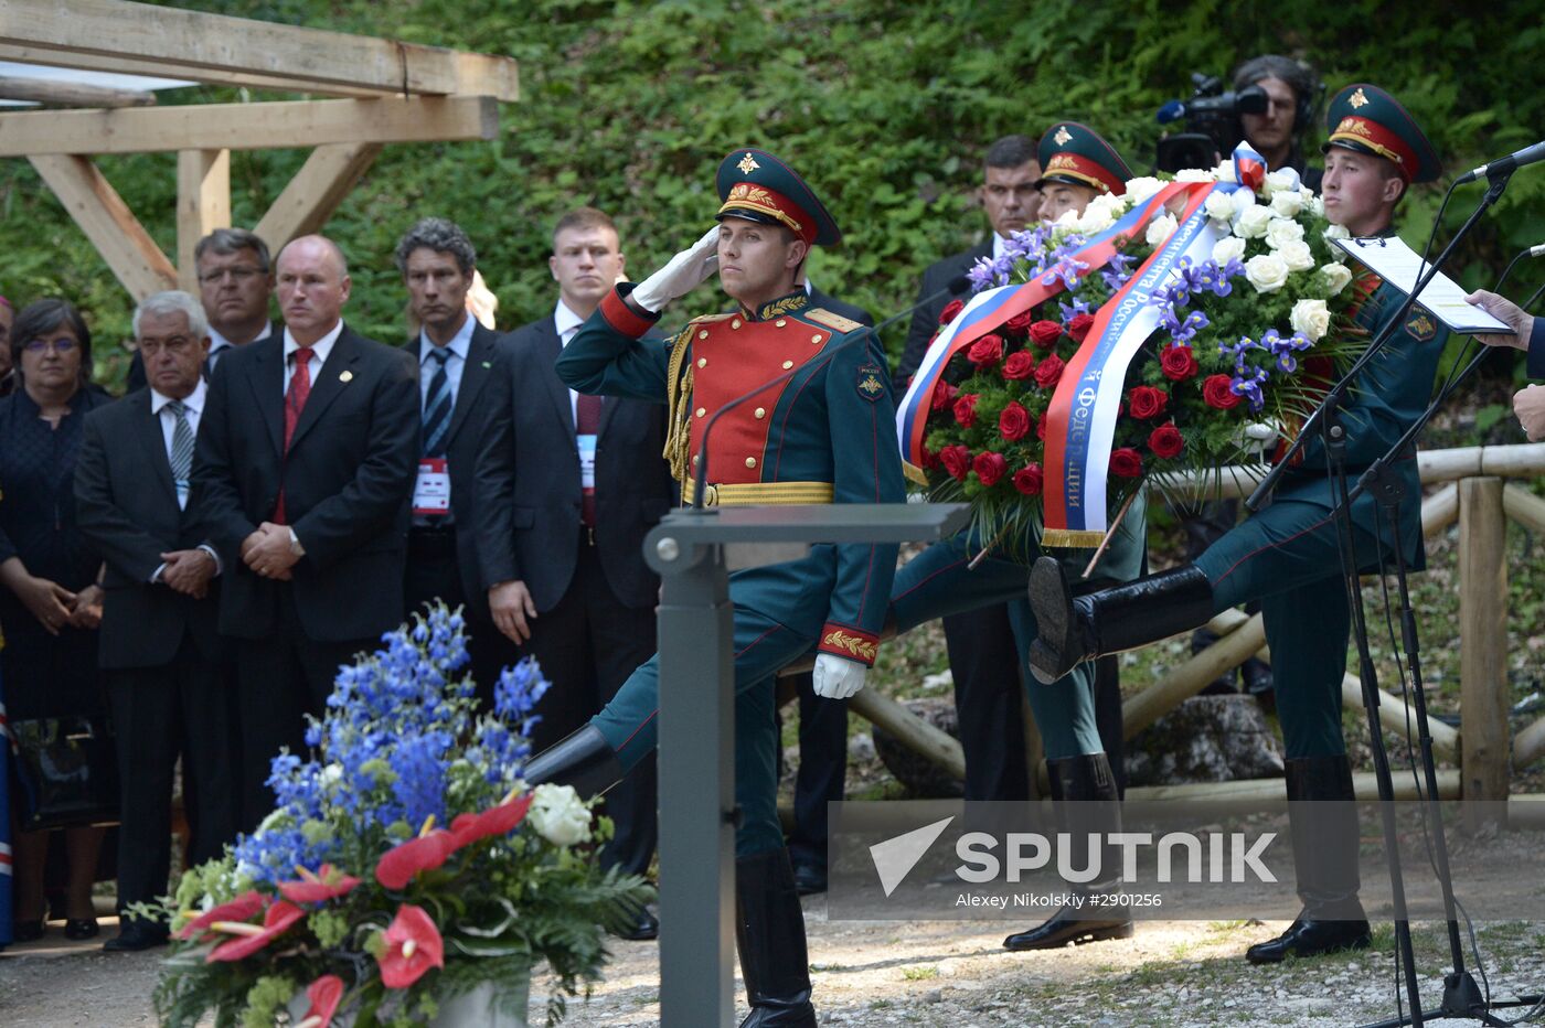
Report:
[[786,849],[735,860],[735,948],[751,1006],[740,1028],[816,1028],[805,911]]

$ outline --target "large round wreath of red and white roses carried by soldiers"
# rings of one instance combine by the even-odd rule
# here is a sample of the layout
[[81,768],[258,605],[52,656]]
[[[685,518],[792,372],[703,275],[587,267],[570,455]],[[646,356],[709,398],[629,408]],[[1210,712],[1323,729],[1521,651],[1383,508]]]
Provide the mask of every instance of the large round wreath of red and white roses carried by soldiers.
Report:
[[[908,394],[925,411],[922,445],[912,452],[930,499],[970,502],[984,543],[1001,540],[1012,551],[1017,540],[1040,536],[1052,401],[1080,349],[1095,343],[1089,336],[1102,309],[1109,323],[1112,298],[1157,315],[1112,411],[1105,469],[1112,512],[1145,478],[1216,474],[1264,440],[1296,431],[1336,369],[1366,347],[1350,320],[1361,286],[1352,287],[1332,244],[1346,230],[1326,221],[1296,173],[1265,174],[1251,188],[1236,184],[1234,167],[1177,176],[1230,190],[1196,204],[1194,222],[1208,235],[1197,233],[1200,245],[1193,242],[1154,289],[1131,289],[1134,275],[1177,233],[1174,208],[1185,202],[1183,191],[1156,178],[1132,179],[1123,196],[1097,196],[1082,215],[1015,233],[1003,256],[970,270],[978,295],[1023,284],[1049,293],[990,332],[978,324],[932,383],[921,383],[929,394]],[[1149,205],[1166,188],[1174,198]],[[966,307],[944,309],[941,335]]]

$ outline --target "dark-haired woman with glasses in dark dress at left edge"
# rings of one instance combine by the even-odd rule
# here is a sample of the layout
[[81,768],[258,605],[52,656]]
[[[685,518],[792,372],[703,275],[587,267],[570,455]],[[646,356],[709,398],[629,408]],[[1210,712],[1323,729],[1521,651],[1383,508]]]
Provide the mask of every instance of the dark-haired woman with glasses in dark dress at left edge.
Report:
[[[0,398],[0,625],[12,724],[102,716],[96,628],[102,557],[76,528],[74,469],[88,411],[111,398],[90,386],[91,332],[76,307],[40,299],[11,326],[19,386]],[[102,829],[65,830],[65,935],[97,934],[91,909]],[[42,937],[48,832],[14,835],[14,942]]]

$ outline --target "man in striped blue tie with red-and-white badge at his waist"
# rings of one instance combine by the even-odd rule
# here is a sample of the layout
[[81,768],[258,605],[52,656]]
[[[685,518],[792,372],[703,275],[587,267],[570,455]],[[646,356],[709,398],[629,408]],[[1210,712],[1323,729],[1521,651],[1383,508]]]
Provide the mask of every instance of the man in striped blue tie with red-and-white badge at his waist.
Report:
[[519,651],[493,625],[477,566],[473,478],[491,394],[497,333],[467,310],[477,252],[454,222],[423,218],[397,242],[397,270],[422,329],[408,343],[419,363],[423,418],[413,526],[408,529],[408,613],[436,599],[467,617],[473,681],[491,708],[499,671]]

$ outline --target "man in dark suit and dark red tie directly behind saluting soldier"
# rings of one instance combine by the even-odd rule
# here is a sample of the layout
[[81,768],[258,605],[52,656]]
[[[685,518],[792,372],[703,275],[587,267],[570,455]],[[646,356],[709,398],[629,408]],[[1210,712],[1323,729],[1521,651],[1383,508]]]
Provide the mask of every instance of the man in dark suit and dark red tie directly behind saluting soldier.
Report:
[[[660,579],[643,557],[672,506],[666,409],[581,397],[553,363],[623,273],[616,227],[581,207],[553,230],[558,306],[504,341],[477,458],[477,550],[494,624],[553,687],[538,705],[541,752],[586,724],[655,651]],[[606,798],[616,835],[603,861],[643,874],[655,849],[655,766]],[[652,938],[644,914],[629,932]]]

